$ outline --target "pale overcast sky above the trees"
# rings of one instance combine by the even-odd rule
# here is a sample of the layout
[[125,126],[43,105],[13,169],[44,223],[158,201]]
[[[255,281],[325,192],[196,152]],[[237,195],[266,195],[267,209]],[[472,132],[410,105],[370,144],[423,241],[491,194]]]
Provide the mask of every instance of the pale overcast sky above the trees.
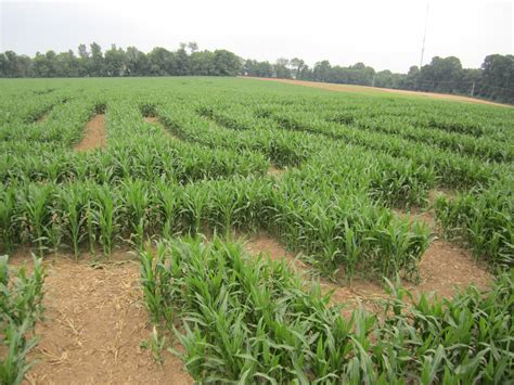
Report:
[[[0,0],[1,1],[1,0]],[[66,51],[81,42],[224,48],[243,57],[304,59],[407,72],[420,63],[426,0],[310,1],[1,1],[0,52]],[[479,67],[490,53],[512,54],[514,8],[505,0],[432,0],[426,64],[455,55]]]

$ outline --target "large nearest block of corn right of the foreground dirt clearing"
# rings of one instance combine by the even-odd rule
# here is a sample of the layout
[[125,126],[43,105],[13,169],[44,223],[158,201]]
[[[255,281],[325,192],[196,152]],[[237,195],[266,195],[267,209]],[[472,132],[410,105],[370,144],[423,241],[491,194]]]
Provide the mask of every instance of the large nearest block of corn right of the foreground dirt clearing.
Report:
[[177,335],[183,349],[171,350],[198,382],[499,384],[514,373],[512,270],[489,293],[451,299],[390,285],[381,317],[344,318],[284,261],[215,236],[149,245],[141,283],[153,322]]

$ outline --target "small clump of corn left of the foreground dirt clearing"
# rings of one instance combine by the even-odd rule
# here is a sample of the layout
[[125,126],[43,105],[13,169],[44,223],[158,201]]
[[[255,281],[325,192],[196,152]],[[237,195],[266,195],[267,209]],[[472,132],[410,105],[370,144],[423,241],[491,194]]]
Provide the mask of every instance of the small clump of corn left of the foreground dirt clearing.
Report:
[[27,355],[36,346],[36,322],[42,313],[44,269],[34,258],[33,273],[25,266],[11,271],[8,256],[0,256],[0,383],[22,384],[34,362]]

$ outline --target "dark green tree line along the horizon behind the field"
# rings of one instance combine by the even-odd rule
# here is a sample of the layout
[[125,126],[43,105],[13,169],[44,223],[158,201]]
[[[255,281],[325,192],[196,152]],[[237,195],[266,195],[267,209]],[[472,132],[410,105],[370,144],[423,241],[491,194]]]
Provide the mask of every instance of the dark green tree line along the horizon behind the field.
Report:
[[120,77],[120,76],[236,76],[275,77],[323,82],[373,86],[415,91],[468,94],[514,103],[514,55],[491,54],[480,68],[463,68],[455,56],[435,56],[431,63],[412,66],[407,74],[376,72],[363,63],[350,66],[321,61],[309,67],[298,57],[275,63],[243,60],[227,50],[198,50],[195,42],[175,51],[162,47],[144,53],[136,47],[115,44],[102,52],[93,42],[56,53],[37,52],[34,57],[13,51],[0,53],[0,77]]

